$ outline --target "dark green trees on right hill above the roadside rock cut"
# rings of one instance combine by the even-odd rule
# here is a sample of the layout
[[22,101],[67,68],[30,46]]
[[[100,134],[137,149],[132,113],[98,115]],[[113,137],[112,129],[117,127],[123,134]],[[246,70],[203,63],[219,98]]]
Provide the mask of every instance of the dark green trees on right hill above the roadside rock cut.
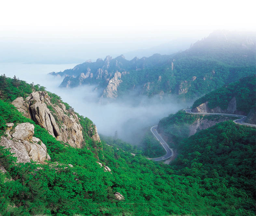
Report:
[[236,97],[236,109],[248,114],[251,108],[255,109],[256,104],[256,77],[250,76],[242,78],[237,82],[230,83],[215,91],[212,91],[203,97],[197,99],[192,108],[208,101],[209,108],[220,107],[226,109],[233,97]]

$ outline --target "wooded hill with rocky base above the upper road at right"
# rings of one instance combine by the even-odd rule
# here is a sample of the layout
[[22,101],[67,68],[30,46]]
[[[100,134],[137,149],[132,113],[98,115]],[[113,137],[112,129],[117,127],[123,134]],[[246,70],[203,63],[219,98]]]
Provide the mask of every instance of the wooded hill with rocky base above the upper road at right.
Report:
[[237,82],[225,85],[222,88],[218,88],[215,91],[197,99],[192,106],[192,112],[215,112],[248,115],[245,122],[256,124],[255,85],[255,75],[245,77]]

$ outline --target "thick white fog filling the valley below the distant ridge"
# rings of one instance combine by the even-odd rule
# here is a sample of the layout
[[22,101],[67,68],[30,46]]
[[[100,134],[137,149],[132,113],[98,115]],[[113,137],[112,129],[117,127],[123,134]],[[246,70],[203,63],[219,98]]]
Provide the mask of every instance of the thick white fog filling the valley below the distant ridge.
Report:
[[94,91],[95,86],[59,88],[62,79],[47,74],[74,66],[0,63],[0,74],[5,73],[7,77],[16,75],[27,83],[45,86],[47,91],[61,96],[80,115],[91,119],[100,134],[114,136],[117,131],[118,138],[135,145],[139,143],[143,132],[156,125],[161,118],[187,107],[186,103],[178,102],[175,96],[170,95],[148,98],[130,92],[122,100],[100,99],[100,92]]

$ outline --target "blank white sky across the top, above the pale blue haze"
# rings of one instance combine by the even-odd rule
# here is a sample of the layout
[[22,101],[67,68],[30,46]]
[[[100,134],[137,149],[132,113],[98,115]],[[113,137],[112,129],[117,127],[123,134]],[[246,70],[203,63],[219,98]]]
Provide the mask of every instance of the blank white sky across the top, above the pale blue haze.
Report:
[[[0,37],[161,37],[174,31],[255,31],[253,0],[6,0]],[[164,36],[163,36],[164,37]]]

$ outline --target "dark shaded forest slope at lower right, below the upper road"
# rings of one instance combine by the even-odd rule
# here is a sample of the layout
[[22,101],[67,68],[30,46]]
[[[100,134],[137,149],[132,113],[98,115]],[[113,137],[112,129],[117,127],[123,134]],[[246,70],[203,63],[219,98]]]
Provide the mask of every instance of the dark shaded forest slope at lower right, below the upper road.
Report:
[[255,128],[222,122],[183,140],[179,152],[173,169],[215,197],[216,215],[255,215]]

